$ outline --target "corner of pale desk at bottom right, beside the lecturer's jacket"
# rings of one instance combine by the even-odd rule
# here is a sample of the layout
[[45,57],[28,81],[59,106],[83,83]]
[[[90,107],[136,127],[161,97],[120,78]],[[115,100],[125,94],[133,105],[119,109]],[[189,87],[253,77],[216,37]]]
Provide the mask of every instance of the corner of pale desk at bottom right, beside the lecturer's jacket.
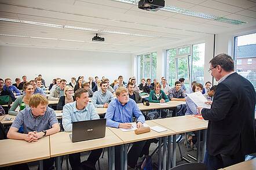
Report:
[[256,169],[256,158],[249,161],[240,162],[239,164],[232,165],[230,167],[223,168],[226,170],[255,170]]

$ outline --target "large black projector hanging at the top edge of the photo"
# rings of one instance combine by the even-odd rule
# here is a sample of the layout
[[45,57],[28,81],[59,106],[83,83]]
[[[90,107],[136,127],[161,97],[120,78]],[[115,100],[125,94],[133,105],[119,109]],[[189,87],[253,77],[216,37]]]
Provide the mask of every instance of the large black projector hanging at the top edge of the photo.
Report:
[[157,11],[164,7],[164,0],[140,0],[138,2],[138,8],[149,10],[149,11]]

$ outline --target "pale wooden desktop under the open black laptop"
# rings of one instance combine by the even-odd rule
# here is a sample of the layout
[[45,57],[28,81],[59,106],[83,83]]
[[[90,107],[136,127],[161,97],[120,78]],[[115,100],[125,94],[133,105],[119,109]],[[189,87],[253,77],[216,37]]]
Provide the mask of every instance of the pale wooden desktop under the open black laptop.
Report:
[[51,157],[123,144],[123,141],[107,127],[106,136],[100,139],[72,143],[70,134],[71,132],[58,132],[57,134],[50,135]]

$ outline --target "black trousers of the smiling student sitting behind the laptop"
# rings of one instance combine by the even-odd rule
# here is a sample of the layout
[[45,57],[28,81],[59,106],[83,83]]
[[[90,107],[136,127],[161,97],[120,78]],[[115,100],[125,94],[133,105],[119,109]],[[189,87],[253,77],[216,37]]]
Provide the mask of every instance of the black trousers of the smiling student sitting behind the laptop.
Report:
[[72,169],[94,169],[95,164],[100,158],[103,149],[92,150],[87,161],[81,162],[81,153],[73,153],[68,155],[68,160]]

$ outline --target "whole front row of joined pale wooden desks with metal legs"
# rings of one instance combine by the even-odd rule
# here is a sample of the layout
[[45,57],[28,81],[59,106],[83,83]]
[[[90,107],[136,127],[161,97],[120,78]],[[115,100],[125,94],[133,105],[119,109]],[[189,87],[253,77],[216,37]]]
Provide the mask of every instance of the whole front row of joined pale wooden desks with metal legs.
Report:
[[[147,139],[159,138],[159,146],[164,145],[163,156],[159,151],[159,169],[171,168],[171,143],[170,139],[173,136],[175,141],[175,135],[182,132],[189,132],[195,130],[206,130],[207,121],[195,119],[192,116],[180,116],[170,117],[167,119],[149,120],[146,121],[149,126],[158,125],[166,128],[167,131],[156,132],[151,130],[148,133],[136,135],[134,131],[123,132],[118,128],[106,128],[106,136],[101,139],[93,139],[89,141],[72,143],[68,132],[58,132],[50,136],[46,136],[40,139],[39,142],[27,143],[25,141],[18,141],[13,139],[6,139],[0,141],[0,155],[5,155],[0,159],[0,167],[19,164],[21,162],[30,162],[36,160],[42,160],[49,157],[57,157],[57,169],[60,167],[60,156],[77,153],[81,151],[93,150],[103,147],[108,147],[109,151],[109,169],[114,169],[114,146],[122,145],[124,148],[121,154],[122,169],[127,169],[127,145],[132,142],[144,141]],[[162,140],[163,139],[163,140]],[[167,140],[168,139],[168,140]],[[205,139],[204,139],[205,141]],[[13,145],[14,143],[14,145]],[[31,148],[32,146],[32,148]],[[168,146],[168,147],[167,147]],[[205,146],[204,146],[205,147]],[[9,149],[12,148],[12,151]],[[200,147],[198,147],[199,150]],[[25,154],[26,156],[17,156],[19,154]],[[15,153],[15,154],[13,154]],[[175,142],[173,143],[173,167],[176,160]],[[163,158],[163,160],[162,160]],[[199,154],[198,154],[199,160]],[[163,167],[161,162],[163,161]]]

